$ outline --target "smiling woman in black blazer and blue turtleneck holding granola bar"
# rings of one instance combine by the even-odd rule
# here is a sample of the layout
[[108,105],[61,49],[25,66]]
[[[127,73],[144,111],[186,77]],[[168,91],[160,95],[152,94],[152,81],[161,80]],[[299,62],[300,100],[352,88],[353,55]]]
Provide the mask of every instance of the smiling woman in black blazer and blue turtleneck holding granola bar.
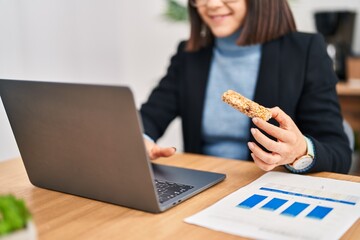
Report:
[[[150,158],[174,154],[152,140],[180,116],[185,152],[253,159],[265,171],[347,173],[351,150],[323,38],[296,32],[286,0],[188,7],[190,38],[140,111]],[[222,103],[228,89],[270,108],[272,119],[249,119]]]

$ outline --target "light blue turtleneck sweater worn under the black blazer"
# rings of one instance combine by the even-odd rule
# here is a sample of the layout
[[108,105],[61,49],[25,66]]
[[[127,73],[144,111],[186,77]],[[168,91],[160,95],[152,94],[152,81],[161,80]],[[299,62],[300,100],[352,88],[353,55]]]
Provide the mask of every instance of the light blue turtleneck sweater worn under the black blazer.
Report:
[[247,159],[250,119],[221,100],[232,89],[254,98],[261,45],[238,46],[239,32],[217,38],[205,96],[202,122],[203,152],[207,155]]

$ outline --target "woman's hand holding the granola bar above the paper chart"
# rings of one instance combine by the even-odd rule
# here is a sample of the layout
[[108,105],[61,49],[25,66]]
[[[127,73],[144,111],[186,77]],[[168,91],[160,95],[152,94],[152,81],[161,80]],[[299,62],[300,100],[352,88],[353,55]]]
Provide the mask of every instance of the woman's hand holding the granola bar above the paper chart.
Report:
[[279,127],[260,118],[253,118],[252,121],[255,126],[277,141],[268,138],[259,129],[251,128],[251,134],[255,140],[269,152],[262,150],[254,142],[248,143],[255,164],[265,171],[270,171],[279,165],[293,163],[307,151],[305,138],[294,121],[279,107],[270,110],[272,118],[279,123]]

